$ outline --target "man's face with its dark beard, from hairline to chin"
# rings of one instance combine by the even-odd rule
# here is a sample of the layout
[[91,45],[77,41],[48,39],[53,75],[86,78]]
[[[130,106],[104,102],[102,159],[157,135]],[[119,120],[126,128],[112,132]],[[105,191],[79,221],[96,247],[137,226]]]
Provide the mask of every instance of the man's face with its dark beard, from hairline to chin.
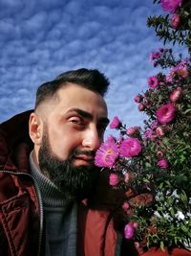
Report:
[[107,107],[100,95],[77,84],[60,88],[57,95],[51,111],[47,108],[39,166],[61,190],[76,193],[96,178],[94,156],[108,124]]

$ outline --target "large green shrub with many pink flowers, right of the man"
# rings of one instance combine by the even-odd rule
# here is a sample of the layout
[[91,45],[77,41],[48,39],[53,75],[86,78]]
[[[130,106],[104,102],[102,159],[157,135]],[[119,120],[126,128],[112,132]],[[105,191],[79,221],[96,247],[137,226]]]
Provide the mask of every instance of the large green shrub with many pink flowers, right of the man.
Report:
[[[187,1],[158,3],[167,12],[185,13],[191,24]],[[110,128],[118,130],[118,137],[110,135],[96,151],[96,165],[109,169],[110,185],[125,192],[126,239],[143,248],[190,247],[191,58],[175,58],[172,49],[159,48],[149,59],[161,72],[148,78],[148,89],[135,97],[148,119],[142,128],[128,128],[115,117]]]

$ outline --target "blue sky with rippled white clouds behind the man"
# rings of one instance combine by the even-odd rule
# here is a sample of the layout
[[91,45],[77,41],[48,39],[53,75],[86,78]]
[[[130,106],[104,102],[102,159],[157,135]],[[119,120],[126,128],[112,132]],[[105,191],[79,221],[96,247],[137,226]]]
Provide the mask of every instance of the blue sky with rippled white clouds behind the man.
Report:
[[111,81],[109,117],[141,125],[134,97],[156,74],[149,54],[161,46],[149,15],[153,0],[1,0],[0,122],[34,105],[44,81],[75,68],[97,68]]

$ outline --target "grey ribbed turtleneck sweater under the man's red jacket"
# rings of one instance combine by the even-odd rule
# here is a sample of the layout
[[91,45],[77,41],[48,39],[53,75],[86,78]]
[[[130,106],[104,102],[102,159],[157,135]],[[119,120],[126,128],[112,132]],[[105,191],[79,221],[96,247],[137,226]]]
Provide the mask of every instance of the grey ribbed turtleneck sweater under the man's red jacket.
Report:
[[30,155],[32,176],[43,200],[46,223],[46,256],[76,255],[76,204],[66,206],[64,195],[36,167]]

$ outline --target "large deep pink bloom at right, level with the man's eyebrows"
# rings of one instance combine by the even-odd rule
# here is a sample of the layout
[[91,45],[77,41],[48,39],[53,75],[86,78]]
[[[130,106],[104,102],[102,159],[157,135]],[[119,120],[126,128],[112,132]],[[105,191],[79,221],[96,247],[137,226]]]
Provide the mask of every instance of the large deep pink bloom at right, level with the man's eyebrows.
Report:
[[176,107],[172,104],[161,105],[156,111],[157,119],[160,124],[171,122],[175,118]]

